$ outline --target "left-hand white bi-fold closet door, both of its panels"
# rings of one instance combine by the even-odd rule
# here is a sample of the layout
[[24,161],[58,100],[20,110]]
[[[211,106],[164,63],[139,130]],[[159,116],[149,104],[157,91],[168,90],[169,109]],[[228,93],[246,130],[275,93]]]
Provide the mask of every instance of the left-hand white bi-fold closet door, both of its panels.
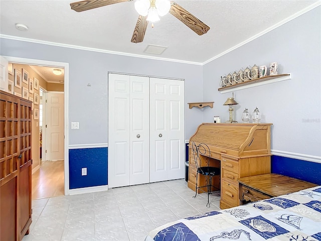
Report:
[[108,187],[149,182],[148,77],[108,75]]

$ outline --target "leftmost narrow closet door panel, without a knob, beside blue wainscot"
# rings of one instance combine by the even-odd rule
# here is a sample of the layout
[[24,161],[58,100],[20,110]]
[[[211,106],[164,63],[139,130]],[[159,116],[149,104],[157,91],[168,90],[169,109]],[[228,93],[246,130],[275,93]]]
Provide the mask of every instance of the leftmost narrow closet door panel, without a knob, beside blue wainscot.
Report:
[[108,74],[108,187],[129,185],[129,76]]

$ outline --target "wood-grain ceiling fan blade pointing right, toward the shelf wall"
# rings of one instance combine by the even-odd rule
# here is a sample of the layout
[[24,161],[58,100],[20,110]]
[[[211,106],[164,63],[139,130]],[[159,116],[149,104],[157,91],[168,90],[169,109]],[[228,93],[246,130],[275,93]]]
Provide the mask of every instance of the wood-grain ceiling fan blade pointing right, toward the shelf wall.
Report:
[[206,34],[207,31],[210,30],[209,26],[204,24],[187,10],[183,9],[177,3],[171,2],[170,13],[198,35]]

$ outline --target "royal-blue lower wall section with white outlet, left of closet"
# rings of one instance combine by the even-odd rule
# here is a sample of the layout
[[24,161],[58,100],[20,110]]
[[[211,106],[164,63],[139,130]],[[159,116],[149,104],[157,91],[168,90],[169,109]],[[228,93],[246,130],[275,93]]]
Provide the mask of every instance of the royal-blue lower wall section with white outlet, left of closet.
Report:
[[[108,184],[107,148],[84,148],[69,150],[69,188],[94,187]],[[87,176],[81,169],[87,168]]]

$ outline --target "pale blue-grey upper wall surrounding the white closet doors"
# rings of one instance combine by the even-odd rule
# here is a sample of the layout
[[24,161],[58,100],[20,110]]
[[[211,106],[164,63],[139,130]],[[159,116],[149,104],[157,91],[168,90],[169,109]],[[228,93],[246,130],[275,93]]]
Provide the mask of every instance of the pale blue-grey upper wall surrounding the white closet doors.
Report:
[[[123,55],[57,47],[24,41],[0,39],[1,55],[69,63],[69,124],[79,122],[79,130],[70,130],[69,144],[107,143],[107,77],[121,72],[185,79],[185,130],[189,139],[202,123],[188,102],[202,101],[201,65],[136,58]],[[87,87],[90,83],[91,87]],[[195,109],[195,108],[194,108]]]

